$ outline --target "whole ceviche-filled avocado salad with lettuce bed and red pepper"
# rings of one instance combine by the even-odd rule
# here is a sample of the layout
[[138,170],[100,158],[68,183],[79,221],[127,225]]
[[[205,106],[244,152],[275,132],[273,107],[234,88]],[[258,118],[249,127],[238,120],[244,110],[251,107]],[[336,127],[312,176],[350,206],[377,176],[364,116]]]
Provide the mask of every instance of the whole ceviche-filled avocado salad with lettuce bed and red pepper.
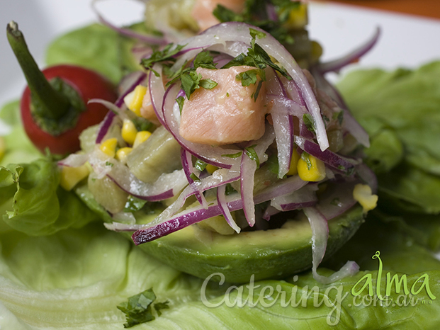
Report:
[[[55,40],[47,62],[57,65],[43,72],[26,31],[16,22],[7,28],[28,87],[20,105],[0,112],[13,127],[0,140],[5,326],[233,329],[237,315],[254,325],[273,314],[277,329],[398,328],[438,309],[439,286],[427,287],[417,273],[426,266],[428,278],[439,277],[430,251],[440,246],[440,203],[431,193],[440,191],[440,153],[416,137],[438,132],[410,110],[390,115],[398,101],[386,108],[405,93],[408,104],[437,118],[408,91],[419,88],[419,72],[434,77],[438,63],[354,72],[334,86],[326,74],[366,55],[380,28],[322,62],[302,1],[150,0],[145,21],[124,27],[98,2],[91,5],[100,23]],[[436,85],[426,93],[432,104]],[[373,290],[368,282],[357,294],[351,289],[372,274],[380,296],[379,249],[384,261],[393,257],[389,276],[405,273],[405,285],[424,279],[411,292],[429,305],[399,309],[400,317],[394,305],[356,314],[343,302],[341,290],[353,301]],[[409,258],[419,266],[402,266]],[[37,263],[34,277],[26,265]],[[312,305],[313,285],[334,304]],[[244,307],[228,305],[231,288]],[[279,305],[286,292],[289,302],[297,296],[310,307]],[[261,295],[271,307],[250,303]],[[201,323],[187,319],[197,313]]]

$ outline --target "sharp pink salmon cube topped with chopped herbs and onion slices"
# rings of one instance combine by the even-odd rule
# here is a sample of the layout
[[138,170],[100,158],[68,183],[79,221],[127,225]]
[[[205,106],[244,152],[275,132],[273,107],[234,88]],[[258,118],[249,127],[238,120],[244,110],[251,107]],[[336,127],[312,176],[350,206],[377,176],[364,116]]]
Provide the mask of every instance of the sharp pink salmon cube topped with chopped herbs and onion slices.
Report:
[[179,132],[184,139],[202,144],[220,145],[259,139],[264,134],[266,88],[263,83],[242,86],[237,75],[254,67],[203,69],[196,72],[203,79],[212,79],[213,89],[196,89],[182,108]]

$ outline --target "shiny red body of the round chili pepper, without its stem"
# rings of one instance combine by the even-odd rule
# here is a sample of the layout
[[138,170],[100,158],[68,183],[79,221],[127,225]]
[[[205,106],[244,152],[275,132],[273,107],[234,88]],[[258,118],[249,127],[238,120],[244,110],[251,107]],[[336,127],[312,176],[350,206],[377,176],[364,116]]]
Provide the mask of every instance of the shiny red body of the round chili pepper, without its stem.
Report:
[[103,120],[108,109],[98,103],[87,102],[91,98],[102,98],[114,102],[117,98],[115,88],[110,81],[96,72],[73,65],[57,65],[43,70],[43,74],[50,80],[60,77],[72,86],[86,104],[86,110],[79,115],[77,125],[60,135],[53,136],[41,130],[33,120],[30,113],[30,90],[26,87],[21,98],[21,118],[23,127],[35,147],[44,152],[50,149],[52,154],[67,154],[79,150],[79,134],[91,125],[96,125]]

